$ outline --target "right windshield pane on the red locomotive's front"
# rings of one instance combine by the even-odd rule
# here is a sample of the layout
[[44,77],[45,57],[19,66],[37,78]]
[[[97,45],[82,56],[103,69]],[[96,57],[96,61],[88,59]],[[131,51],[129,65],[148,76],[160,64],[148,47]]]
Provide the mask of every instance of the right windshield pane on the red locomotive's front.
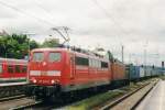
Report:
[[48,55],[50,62],[59,62],[61,61],[61,53],[51,52]]

